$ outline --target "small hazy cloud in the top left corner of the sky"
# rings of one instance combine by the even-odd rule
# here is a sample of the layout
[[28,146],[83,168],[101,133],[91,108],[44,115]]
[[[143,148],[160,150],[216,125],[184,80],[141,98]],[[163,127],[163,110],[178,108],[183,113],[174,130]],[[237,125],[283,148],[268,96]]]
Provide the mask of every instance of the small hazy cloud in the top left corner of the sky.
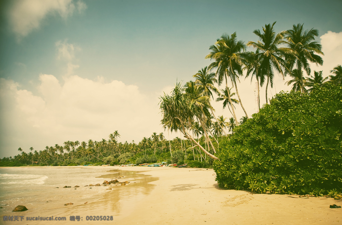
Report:
[[82,1],[73,0],[16,0],[9,10],[9,23],[18,38],[25,37],[33,29],[38,29],[42,19],[49,14],[57,13],[66,19],[75,9],[80,13],[87,8]]

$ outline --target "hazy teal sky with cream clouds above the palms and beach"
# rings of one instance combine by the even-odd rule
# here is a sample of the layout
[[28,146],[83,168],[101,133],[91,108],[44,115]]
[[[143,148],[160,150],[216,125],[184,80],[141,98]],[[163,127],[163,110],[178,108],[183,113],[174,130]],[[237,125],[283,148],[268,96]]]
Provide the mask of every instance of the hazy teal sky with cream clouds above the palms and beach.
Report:
[[[159,97],[194,80],[223,33],[247,43],[275,21],[276,32],[298,23],[318,29],[324,64],[313,64],[312,74],[329,76],[342,64],[341,7],[340,0],[1,1],[0,157],[101,141],[116,130],[119,142],[180,136],[160,125]],[[268,97],[290,90],[287,80],[276,76]],[[238,90],[248,115],[256,113],[255,80],[240,77]],[[265,86],[260,95],[264,104]],[[232,117],[222,103],[212,106]],[[236,114],[244,116],[240,106]]]

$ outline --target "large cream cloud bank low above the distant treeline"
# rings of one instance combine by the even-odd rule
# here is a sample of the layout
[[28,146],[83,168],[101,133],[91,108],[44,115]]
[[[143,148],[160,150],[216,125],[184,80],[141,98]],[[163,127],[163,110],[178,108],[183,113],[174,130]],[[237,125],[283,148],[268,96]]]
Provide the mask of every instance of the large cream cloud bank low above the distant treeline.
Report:
[[121,141],[129,142],[162,132],[158,96],[143,95],[135,85],[78,76],[60,82],[47,74],[39,80],[35,95],[13,80],[0,79],[3,156],[17,154],[19,147],[42,150],[67,140],[100,141],[115,130]]

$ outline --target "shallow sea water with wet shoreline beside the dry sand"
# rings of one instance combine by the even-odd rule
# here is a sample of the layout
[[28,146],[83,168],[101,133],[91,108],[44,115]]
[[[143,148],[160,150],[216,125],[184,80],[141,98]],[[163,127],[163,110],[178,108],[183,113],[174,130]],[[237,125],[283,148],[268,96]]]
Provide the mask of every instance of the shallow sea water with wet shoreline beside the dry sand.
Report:
[[[86,186],[102,184],[104,180],[110,181],[119,176],[124,176],[119,181],[130,181],[130,184],[111,186],[112,190],[106,190],[108,186]],[[134,171],[108,167],[0,168],[0,224],[28,224],[24,221],[26,217],[38,216],[66,217],[67,222],[70,222],[70,216],[80,216],[84,217],[83,222],[87,222],[85,219],[89,214],[114,216],[115,220],[133,210],[134,202],[153,189],[154,185],[149,182],[155,180],[157,178]],[[64,206],[66,203],[73,205]],[[12,212],[18,205],[29,210]],[[19,218],[19,222],[3,222],[3,216],[11,215],[24,216],[24,220],[20,222]],[[57,224],[52,222],[49,224]],[[30,224],[44,224],[44,221]],[[89,221],[89,224],[92,222]]]

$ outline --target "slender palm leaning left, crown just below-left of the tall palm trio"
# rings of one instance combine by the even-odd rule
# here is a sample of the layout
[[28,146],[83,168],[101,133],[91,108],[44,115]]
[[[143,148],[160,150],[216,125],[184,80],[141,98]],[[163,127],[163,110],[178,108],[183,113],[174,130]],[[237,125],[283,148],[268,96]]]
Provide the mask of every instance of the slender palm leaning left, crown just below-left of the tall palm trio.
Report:
[[[202,68],[201,70],[198,70],[197,74],[195,74],[193,77],[196,78],[195,85],[197,85],[200,88],[200,91],[202,91],[204,95],[209,96],[208,104],[210,106],[211,113],[214,116],[216,122],[218,122],[214,114],[214,109],[210,104],[210,97],[214,99],[212,92],[215,92],[216,94],[220,94],[219,90],[214,86],[214,83],[216,83],[215,73],[213,72],[209,73],[208,67],[206,66]],[[224,134],[227,135],[225,131],[223,130],[223,128],[221,129],[224,132]]]

